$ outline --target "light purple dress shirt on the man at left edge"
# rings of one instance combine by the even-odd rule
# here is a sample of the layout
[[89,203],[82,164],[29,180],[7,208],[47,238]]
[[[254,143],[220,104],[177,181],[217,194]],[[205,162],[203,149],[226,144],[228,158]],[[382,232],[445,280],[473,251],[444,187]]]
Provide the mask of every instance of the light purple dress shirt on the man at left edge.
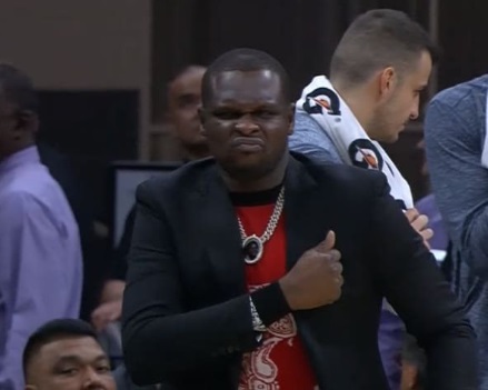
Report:
[[0,389],[21,390],[29,336],[54,318],[78,318],[78,227],[36,147],[0,161]]

